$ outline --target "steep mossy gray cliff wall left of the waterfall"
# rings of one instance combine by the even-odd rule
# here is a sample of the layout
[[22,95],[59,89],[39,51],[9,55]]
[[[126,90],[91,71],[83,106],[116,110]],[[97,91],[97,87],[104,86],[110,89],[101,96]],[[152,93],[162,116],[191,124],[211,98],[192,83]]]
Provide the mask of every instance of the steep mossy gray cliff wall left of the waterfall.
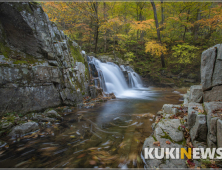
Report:
[[0,116],[82,102],[87,68],[39,4],[0,3]]

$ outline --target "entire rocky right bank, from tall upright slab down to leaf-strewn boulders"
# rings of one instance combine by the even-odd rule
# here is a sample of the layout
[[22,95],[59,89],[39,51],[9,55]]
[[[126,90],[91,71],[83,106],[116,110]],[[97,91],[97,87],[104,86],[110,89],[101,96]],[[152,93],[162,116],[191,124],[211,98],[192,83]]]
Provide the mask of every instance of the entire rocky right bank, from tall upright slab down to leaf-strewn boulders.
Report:
[[[145,148],[221,148],[222,147],[222,45],[217,44],[201,56],[201,85],[191,86],[183,105],[165,104],[152,125],[153,134]],[[180,155],[181,153],[179,153]],[[220,159],[146,159],[146,168],[221,168]]]

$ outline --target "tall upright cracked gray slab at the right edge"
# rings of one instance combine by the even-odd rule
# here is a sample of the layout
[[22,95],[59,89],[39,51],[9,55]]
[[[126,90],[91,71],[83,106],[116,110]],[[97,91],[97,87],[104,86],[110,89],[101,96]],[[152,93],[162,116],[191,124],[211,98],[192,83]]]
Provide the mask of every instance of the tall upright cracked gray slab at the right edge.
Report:
[[201,84],[203,86],[205,102],[222,100],[221,54],[222,44],[217,44],[202,53]]

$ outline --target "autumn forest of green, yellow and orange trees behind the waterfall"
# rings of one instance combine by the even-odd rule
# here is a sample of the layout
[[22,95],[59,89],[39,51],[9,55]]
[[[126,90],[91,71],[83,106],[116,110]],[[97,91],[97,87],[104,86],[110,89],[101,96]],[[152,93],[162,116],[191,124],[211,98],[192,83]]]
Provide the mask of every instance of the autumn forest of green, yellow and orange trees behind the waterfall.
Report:
[[222,39],[222,3],[92,1],[42,6],[87,53],[134,61],[141,74],[152,71],[148,62],[159,69],[195,65],[203,50]]

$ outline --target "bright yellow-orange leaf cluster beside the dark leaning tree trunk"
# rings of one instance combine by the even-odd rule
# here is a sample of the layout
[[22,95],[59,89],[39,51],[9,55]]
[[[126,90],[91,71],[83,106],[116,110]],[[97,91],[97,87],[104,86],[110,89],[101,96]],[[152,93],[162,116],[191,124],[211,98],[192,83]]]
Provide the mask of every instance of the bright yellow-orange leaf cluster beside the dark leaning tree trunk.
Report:
[[145,52],[151,53],[153,56],[161,56],[167,53],[165,44],[160,44],[154,40],[150,40],[145,44]]

